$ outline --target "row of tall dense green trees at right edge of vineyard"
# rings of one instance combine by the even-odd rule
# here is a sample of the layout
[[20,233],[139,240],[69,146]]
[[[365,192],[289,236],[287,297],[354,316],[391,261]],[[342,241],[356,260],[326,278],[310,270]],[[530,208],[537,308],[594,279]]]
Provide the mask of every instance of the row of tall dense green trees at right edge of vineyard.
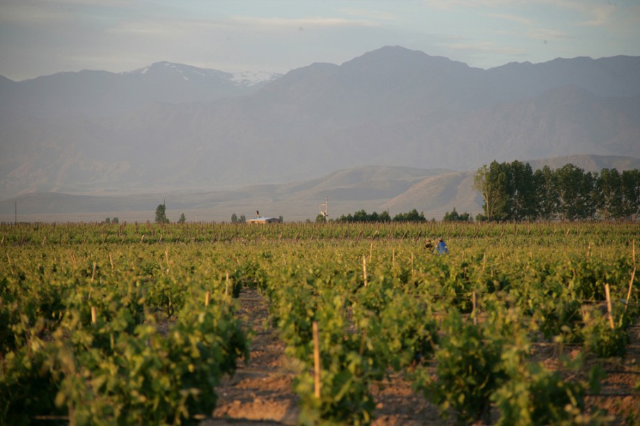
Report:
[[640,213],[640,170],[585,172],[573,164],[536,171],[513,161],[478,168],[474,189],[483,197],[477,220],[635,220]]

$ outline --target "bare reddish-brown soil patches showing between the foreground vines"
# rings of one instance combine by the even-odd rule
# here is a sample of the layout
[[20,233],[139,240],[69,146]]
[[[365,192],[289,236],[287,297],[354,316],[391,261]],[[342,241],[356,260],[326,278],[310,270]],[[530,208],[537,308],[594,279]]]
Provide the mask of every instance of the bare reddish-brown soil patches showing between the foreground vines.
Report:
[[[219,401],[213,418],[202,424],[218,425],[295,425],[297,396],[292,391],[293,373],[284,354],[285,345],[267,323],[267,303],[257,290],[245,288],[240,294],[240,311],[244,322],[256,331],[251,345],[251,359],[241,363],[235,376],[226,378],[217,388]],[[587,404],[608,409],[616,415],[615,424],[625,417],[640,420],[640,398],[630,395],[640,379],[640,326],[630,330],[631,344],[627,356],[618,360],[598,361],[609,372],[601,394],[587,398]],[[549,349],[552,363],[557,354]],[[372,393],[377,401],[373,425],[442,425],[435,406],[412,390],[400,374],[391,374]],[[497,420],[494,416],[494,420]],[[639,423],[636,423],[639,424]]]

